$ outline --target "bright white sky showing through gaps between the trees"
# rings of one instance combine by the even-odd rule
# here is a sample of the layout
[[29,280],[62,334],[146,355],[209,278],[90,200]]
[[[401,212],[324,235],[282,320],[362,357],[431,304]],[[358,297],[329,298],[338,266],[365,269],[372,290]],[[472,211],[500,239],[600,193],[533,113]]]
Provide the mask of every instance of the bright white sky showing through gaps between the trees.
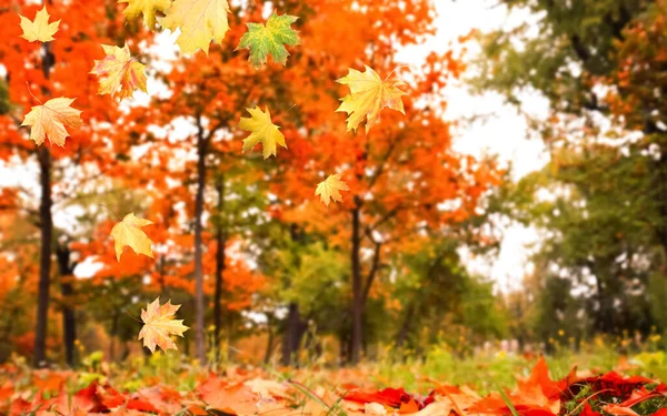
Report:
[[[456,43],[459,35],[472,29],[487,32],[504,28],[509,29],[531,18],[527,12],[509,14],[505,7],[494,6],[497,0],[432,0],[437,8],[437,33],[420,45],[400,51],[398,60],[406,64],[420,64],[432,51],[445,52],[449,44]],[[166,33],[169,38],[169,34]],[[172,39],[165,43],[171,44]],[[479,50],[469,44],[470,58]],[[161,54],[173,54],[173,50],[165,50]],[[169,61],[169,60],[166,60]],[[158,84],[149,80],[149,93],[161,93]],[[449,103],[446,118],[455,124],[454,146],[457,151],[476,156],[496,154],[500,162],[511,163],[511,177],[520,179],[525,174],[539,170],[548,161],[541,141],[529,139],[528,126],[517,110],[504,103],[500,95],[485,93],[475,95],[462,84],[449,85],[446,91]],[[143,97],[146,95],[146,97]],[[139,102],[147,101],[148,94],[137,94]],[[524,95],[524,111],[531,116],[546,116],[547,101],[536,95]],[[462,123],[474,115],[485,115],[474,123]],[[16,185],[37,186],[37,165],[22,165],[20,172],[10,170],[0,162],[0,187]],[[34,192],[38,195],[39,192]],[[56,215],[54,221],[67,221],[63,215]],[[58,225],[58,224],[57,224]],[[517,224],[502,225],[504,240],[497,257],[472,258],[464,254],[470,271],[488,276],[496,282],[500,292],[509,292],[521,287],[522,276],[529,270],[528,256],[531,245],[538,241],[536,230]]]

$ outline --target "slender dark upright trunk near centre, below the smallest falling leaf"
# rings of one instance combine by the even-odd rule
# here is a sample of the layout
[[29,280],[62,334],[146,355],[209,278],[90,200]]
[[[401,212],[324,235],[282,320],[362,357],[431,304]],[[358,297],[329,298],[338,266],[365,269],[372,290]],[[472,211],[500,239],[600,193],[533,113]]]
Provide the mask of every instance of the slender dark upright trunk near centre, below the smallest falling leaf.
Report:
[[359,204],[352,210],[352,251],[350,253],[352,266],[352,338],[350,362],[357,364],[361,358],[364,345],[364,285],[361,282],[361,224]]

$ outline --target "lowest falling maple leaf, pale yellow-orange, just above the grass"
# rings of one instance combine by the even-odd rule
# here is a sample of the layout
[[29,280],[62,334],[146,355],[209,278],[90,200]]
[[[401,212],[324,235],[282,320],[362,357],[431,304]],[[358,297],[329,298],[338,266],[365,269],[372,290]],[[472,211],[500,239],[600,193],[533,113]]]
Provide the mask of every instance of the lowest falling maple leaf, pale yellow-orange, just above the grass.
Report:
[[146,310],[141,310],[143,327],[139,332],[139,339],[143,339],[143,346],[151,353],[156,352],[156,346],[162,351],[178,349],[170,336],[183,336],[183,332],[188,331],[188,327],[183,325],[183,319],[173,318],[179,307],[180,305],[172,305],[171,301],[160,305],[158,296],[146,306]]

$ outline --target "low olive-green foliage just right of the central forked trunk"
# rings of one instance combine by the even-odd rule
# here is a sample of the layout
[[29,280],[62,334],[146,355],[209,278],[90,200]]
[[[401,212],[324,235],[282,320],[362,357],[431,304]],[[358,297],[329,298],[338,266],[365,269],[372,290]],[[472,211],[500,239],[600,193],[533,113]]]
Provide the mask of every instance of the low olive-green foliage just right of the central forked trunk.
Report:
[[[492,284],[467,272],[457,242],[444,240],[406,254],[397,263],[406,271],[392,295],[402,304],[396,341],[399,346],[411,349],[446,341],[470,348],[506,334],[507,319]],[[460,342],[462,336],[471,341],[469,345]]]

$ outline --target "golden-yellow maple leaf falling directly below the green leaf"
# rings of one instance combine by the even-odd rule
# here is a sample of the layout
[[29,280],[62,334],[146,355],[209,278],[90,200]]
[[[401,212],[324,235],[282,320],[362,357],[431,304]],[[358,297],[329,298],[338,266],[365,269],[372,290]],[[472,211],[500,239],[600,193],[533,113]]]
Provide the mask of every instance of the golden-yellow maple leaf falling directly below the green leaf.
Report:
[[265,111],[261,111],[259,106],[247,110],[250,118],[241,118],[239,121],[240,129],[251,132],[248,138],[243,139],[243,152],[261,143],[263,159],[268,159],[271,154],[277,154],[277,144],[287,149],[285,135],[278,130],[280,128],[271,122],[268,108],[265,108]]

